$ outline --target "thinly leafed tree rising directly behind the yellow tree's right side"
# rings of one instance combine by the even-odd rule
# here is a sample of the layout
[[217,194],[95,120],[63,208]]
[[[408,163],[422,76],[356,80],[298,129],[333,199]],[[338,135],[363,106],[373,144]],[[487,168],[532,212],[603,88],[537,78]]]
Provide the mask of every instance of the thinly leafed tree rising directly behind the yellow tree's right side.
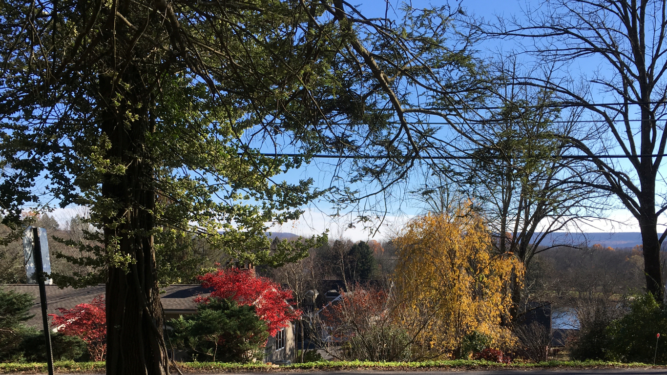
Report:
[[[453,196],[472,200],[494,236],[498,254],[514,254],[524,269],[536,254],[558,246],[576,246],[567,234],[598,218],[605,192],[582,187],[582,161],[564,159],[572,151],[562,139],[578,130],[580,111],[563,112],[551,91],[522,85],[516,59],[497,63],[498,89],[488,116],[470,121],[458,143],[470,155],[432,169],[419,195],[430,210],[447,210]],[[556,232],[565,232],[554,236]],[[511,321],[525,309],[521,270],[512,282]]]

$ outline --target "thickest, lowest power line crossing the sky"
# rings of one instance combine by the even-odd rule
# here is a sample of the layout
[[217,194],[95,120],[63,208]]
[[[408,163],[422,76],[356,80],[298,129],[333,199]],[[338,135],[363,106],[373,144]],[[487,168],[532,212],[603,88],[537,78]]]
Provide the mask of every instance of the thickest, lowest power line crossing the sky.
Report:
[[[239,156],[244,155],[245,153],[237,153]],[[308,157],[313,159],[398,159],[398,158],[410,158],[412,156],[400,155],[392,157],[389,155],[328,155],[328,154],[315,154],[315,155],[304,155],[302,153],[259,153],[257,155],[265,157]],[[631,157],[665,157],[667,153],[657,153],[652,155],[560,155],[554,156],[554,159],[576,159],[576,160],[585,160],[592,159],[596,157],[598,159],[630,159]],[[416,159],[426,159],[426,160],[475,160],[475,159],[507,159],[507,157],[502,156],[488,156],[488,157],[479,157],[479,156],[460,156],[460,155],[446,155],[446,156],[416,156]]]

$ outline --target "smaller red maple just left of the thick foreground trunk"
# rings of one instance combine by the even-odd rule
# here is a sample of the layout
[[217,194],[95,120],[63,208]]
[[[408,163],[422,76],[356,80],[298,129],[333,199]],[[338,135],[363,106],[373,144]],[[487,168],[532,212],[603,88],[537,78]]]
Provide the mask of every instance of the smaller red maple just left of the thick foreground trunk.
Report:
[[107,314],[104,296],[100,295],[89,304],[78,304],[75,308],[58,309],[61,314],[53,316],[51,326],[67,336],[78,336],[86,343],[91,358],[104,360],[107,354]]

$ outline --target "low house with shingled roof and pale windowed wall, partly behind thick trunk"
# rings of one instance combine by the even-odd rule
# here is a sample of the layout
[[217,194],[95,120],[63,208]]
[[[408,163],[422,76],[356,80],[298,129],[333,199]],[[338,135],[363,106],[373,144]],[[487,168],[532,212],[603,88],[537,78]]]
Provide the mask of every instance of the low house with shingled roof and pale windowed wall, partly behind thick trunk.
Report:
[[[0,290],[13,290],[18,293],[30,294],[35,299],[30,309],[32,318],[24,322],[26,326],[37,330],[43,328],[41,317],[41,303],[39,302],[39,286],[37,284],[0,284]],[[194,299],[197,296],[209,296],[211,288],[203,288],[201,285],[177,284],[163,288],[160,301],[164,309],[165,320],[178,318],[181,315],[195,314],[197,304]],[[99,284],[85,288],[59,288],[55,285],[46,286],[47,313],[60,314],[59,308],[71,309],[79,304],[89,304],[95,297],[104,296],[106,286]],[[283,328],[274,337],[269,337],[264,350],[264,362],[276,362],[280,360],[293,361],[296,356],[296,342],[294,337],[294,326]]]

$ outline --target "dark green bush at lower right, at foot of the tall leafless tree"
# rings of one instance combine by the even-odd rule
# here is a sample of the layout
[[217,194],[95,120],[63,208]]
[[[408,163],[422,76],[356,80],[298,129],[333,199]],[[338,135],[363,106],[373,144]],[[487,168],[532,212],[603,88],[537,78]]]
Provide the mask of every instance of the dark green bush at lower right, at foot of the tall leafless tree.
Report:
[[[610,337],[606,351],[608,359],[620,362],[653,363],[656,350],[656,334],[667,333],[667,311],[650,293],[637,298],[626,316],[615,320],[606,330]],[[667,363],[667,344],[658,341],[656,363]],[[606,342],[601,342],[605,344]]]

